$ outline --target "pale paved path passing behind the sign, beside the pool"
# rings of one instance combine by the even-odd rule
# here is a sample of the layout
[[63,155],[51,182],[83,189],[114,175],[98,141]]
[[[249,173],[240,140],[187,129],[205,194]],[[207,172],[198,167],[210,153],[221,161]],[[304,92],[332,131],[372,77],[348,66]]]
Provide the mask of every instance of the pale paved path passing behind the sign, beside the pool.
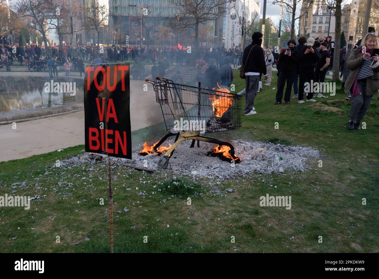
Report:
[[[130,81],[132,131],[163,120],[152,85],[148,85],[146,92],[143,91],[145,83],[141,80]],[[0,161],[27,158],[84,144],[84,111],[20,122],[16,125],[16,129],[12,129],[12,124],[0,125]]]

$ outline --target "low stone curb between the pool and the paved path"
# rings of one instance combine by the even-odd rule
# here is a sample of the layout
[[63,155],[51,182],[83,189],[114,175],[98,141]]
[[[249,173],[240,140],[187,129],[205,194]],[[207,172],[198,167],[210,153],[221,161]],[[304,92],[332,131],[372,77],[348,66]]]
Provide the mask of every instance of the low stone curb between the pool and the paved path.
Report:
[[[67,113],[72,112],[79,112],[81,110],[84,110],[84,104],[83,103],[75,103],[75,104],[64,104],[59,107],[53,107],[53,108],[37,108],[38,110],[33,109],[33,111],[30,112],[20,112],[20,113],[13,113],[9,115],[0,115],[0,125],[3,124],[11,124],[13,122],[24,122],[24,121],[30,121],[30,120],[37,120],[41,118],[47,118],[47,117],[53,117],[58,115],[63,115]],[[8,114],[7,112],[6,114]]]

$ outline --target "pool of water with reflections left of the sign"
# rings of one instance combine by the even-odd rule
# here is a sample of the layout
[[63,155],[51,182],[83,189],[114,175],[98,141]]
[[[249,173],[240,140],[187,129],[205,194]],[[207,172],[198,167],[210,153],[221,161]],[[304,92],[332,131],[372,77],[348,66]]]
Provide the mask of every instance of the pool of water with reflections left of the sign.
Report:
[[[76,95],[45,90],[45,82],[75,82]],[[46,92],[47,91],[47,92]],[[54,107],[83,99],[83,79],[65,77],[0,77],[0,112],[28,107]]]

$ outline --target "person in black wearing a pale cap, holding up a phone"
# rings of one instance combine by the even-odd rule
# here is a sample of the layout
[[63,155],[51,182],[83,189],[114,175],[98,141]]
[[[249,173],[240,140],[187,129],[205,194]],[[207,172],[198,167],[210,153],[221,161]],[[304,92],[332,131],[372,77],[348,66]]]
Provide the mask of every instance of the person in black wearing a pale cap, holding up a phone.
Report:
[[[315,67],[317,61],[321,59],[321,55],[319,52],[313,47],[315,43],[315,39],[308,38],[307,40],[307,48],[305,51],[301,51],[299,55],[299,63],[300,63],[300,82],[299,82],[299,96],[298,103],[304,103],[304,84],[305,80],[308,79],[309,84],[312,84],[312,80],[315,80]],[[309,87],[310,89],[313,89]],[[310,90],[313,91],[313,90]],[[316,102],[313,99],[313,92],[308,92],[307,102]]]

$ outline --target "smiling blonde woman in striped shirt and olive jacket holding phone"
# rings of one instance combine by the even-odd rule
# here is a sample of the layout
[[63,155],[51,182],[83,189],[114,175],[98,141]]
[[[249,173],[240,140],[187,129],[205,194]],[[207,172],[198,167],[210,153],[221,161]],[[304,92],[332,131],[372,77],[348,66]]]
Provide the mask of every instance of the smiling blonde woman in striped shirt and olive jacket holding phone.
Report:
[[[348,129],[360,129],[360,122],[365,117],[372,95],[379,88],[379,55],[373,54],[379,49],[378,34],[367,33],[360,47],[352,50],[346,66],[350,70],[345,83],[345,92],[351,94],[351,109]],[[377,50],[376,50],[377,51]]]

